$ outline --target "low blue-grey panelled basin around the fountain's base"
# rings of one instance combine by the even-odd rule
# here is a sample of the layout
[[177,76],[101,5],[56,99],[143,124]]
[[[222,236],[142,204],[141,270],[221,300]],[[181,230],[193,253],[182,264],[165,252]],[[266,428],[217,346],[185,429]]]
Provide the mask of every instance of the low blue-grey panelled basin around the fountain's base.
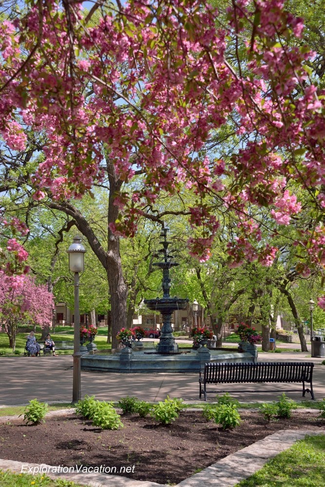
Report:
[[123,349],[111,355],[81,356],[81,370],[98,372],[121,372],[125,374],[154,372],[185,373],[200,372],[206,362],[254,362],[255,357],[247,352],[209,351],[206,348],[185,354],[161,355],[157,353],[132,352]]

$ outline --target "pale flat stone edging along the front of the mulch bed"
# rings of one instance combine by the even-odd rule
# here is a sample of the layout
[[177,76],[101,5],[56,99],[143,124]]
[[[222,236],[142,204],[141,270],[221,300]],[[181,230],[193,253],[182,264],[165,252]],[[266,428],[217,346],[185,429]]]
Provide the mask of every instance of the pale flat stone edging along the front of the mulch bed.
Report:
[[[260,470],[271,458],[278,453],[290,448],[297,440],[305,438],[306,435],[324,434],[324,431],[315,430],[280,430],[273,433],[263,440],[253,443],[249,447],[238,450],[236,453],[222,458],[218,462],[210,465],[199,473],[181,481],[176,487],[201,487],[216,486],[232,487],[243,479]],[[165,485],[155,482],[142,482],[127,477],[117,475],[106,475],[102,473],[53,473],[55,468],[45,464],[27,464],[12,460],[0,459],[0,468],[21,473],[24,467],[25,473],[30,473],[29,468],[43,467],[49,477],[56,479],[62,478],[84,484],[91,487],[164,487]],[[52,470],[50,473],[48,470]],[[33,470],[32,470],[33,471]]]

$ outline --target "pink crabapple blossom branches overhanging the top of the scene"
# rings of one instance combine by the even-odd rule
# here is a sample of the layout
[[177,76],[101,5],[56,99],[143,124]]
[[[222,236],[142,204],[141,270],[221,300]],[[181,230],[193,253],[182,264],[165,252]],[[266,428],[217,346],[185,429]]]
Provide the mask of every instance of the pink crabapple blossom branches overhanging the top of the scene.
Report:
[[[0,26],[1,136],[17,151],[26,128],[46,138],[34,198],[61,204],[90,191],[104,177],[105,151],[118,181],[110,194],[115,262],[118,237],[134,235],[159,192],[186,187],[196,197],[187,208],[191,255],[209,259],[222,205],[238,222],[230,265],[270,266],[278,249],[263,239],[265,223],[251,208],[270,209],[267,230],[276,234],[301,212],[300,188],[313,225],[294,244],[323,276],[325,102],[306,67],[313,53],[294,42],[302,19],[280,0],[232,1],[222,26],[205,1],[101,0],[87,14],[82,3],[30,0]],[[227,60],[229,38],[237,63]],[[207,150],[211,134],[229,127],[238,142],[227,156]],[[141,184],[122,186],[137,175]],[[126,291],[117,292],[122,278],[115,287],[113,280],[120,328],[125,313],[116,301]]]

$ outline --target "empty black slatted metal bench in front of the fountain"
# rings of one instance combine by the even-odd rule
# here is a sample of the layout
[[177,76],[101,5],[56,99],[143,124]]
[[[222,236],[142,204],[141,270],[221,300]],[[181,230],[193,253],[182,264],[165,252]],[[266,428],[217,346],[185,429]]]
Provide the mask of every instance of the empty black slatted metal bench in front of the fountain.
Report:
[[[207,400],[207,384],[233,384],[258,382],[301,382],[303,397],[306,392],[315,399],[312,386],[313,362],[255,362],[255,363],[206,363],[200,372],[200,398],[202,386],[204,400]],[[305,382],[310,389],[305,388]],[[268,392],[259,389],[257,392]]]

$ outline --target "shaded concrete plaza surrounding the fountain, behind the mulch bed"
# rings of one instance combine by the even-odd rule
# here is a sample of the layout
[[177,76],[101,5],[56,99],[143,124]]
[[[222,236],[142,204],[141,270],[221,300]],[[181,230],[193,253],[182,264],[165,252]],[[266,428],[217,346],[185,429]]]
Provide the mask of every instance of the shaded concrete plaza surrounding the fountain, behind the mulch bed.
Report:
[[[325,397],[325,366],[322,358],[310,358],[307,353],[263,353],[259,361],[312,361],[315,363],[313,388],[315,398]],[[73,357],[68,355],[40,357],[0,357],[0,406],[26,404],[35,397],[46,402],[70,402],[72,400]],[[198,374],[118,374],[81,372],[81,393],[95,395],[99,400],[117,401],[126,395],[150,402],[171,397],[199,402]],[[233,397],[245,402],[276,400],[282,391],[296,400],[302,397],[301,384],[220,384],[209,389],[218,393],[228,391]],[[258,392],[258,391],[266,392]],[[208,400],[215,400],[209,393]],[[204,401],[202,401],[204,402]]]

